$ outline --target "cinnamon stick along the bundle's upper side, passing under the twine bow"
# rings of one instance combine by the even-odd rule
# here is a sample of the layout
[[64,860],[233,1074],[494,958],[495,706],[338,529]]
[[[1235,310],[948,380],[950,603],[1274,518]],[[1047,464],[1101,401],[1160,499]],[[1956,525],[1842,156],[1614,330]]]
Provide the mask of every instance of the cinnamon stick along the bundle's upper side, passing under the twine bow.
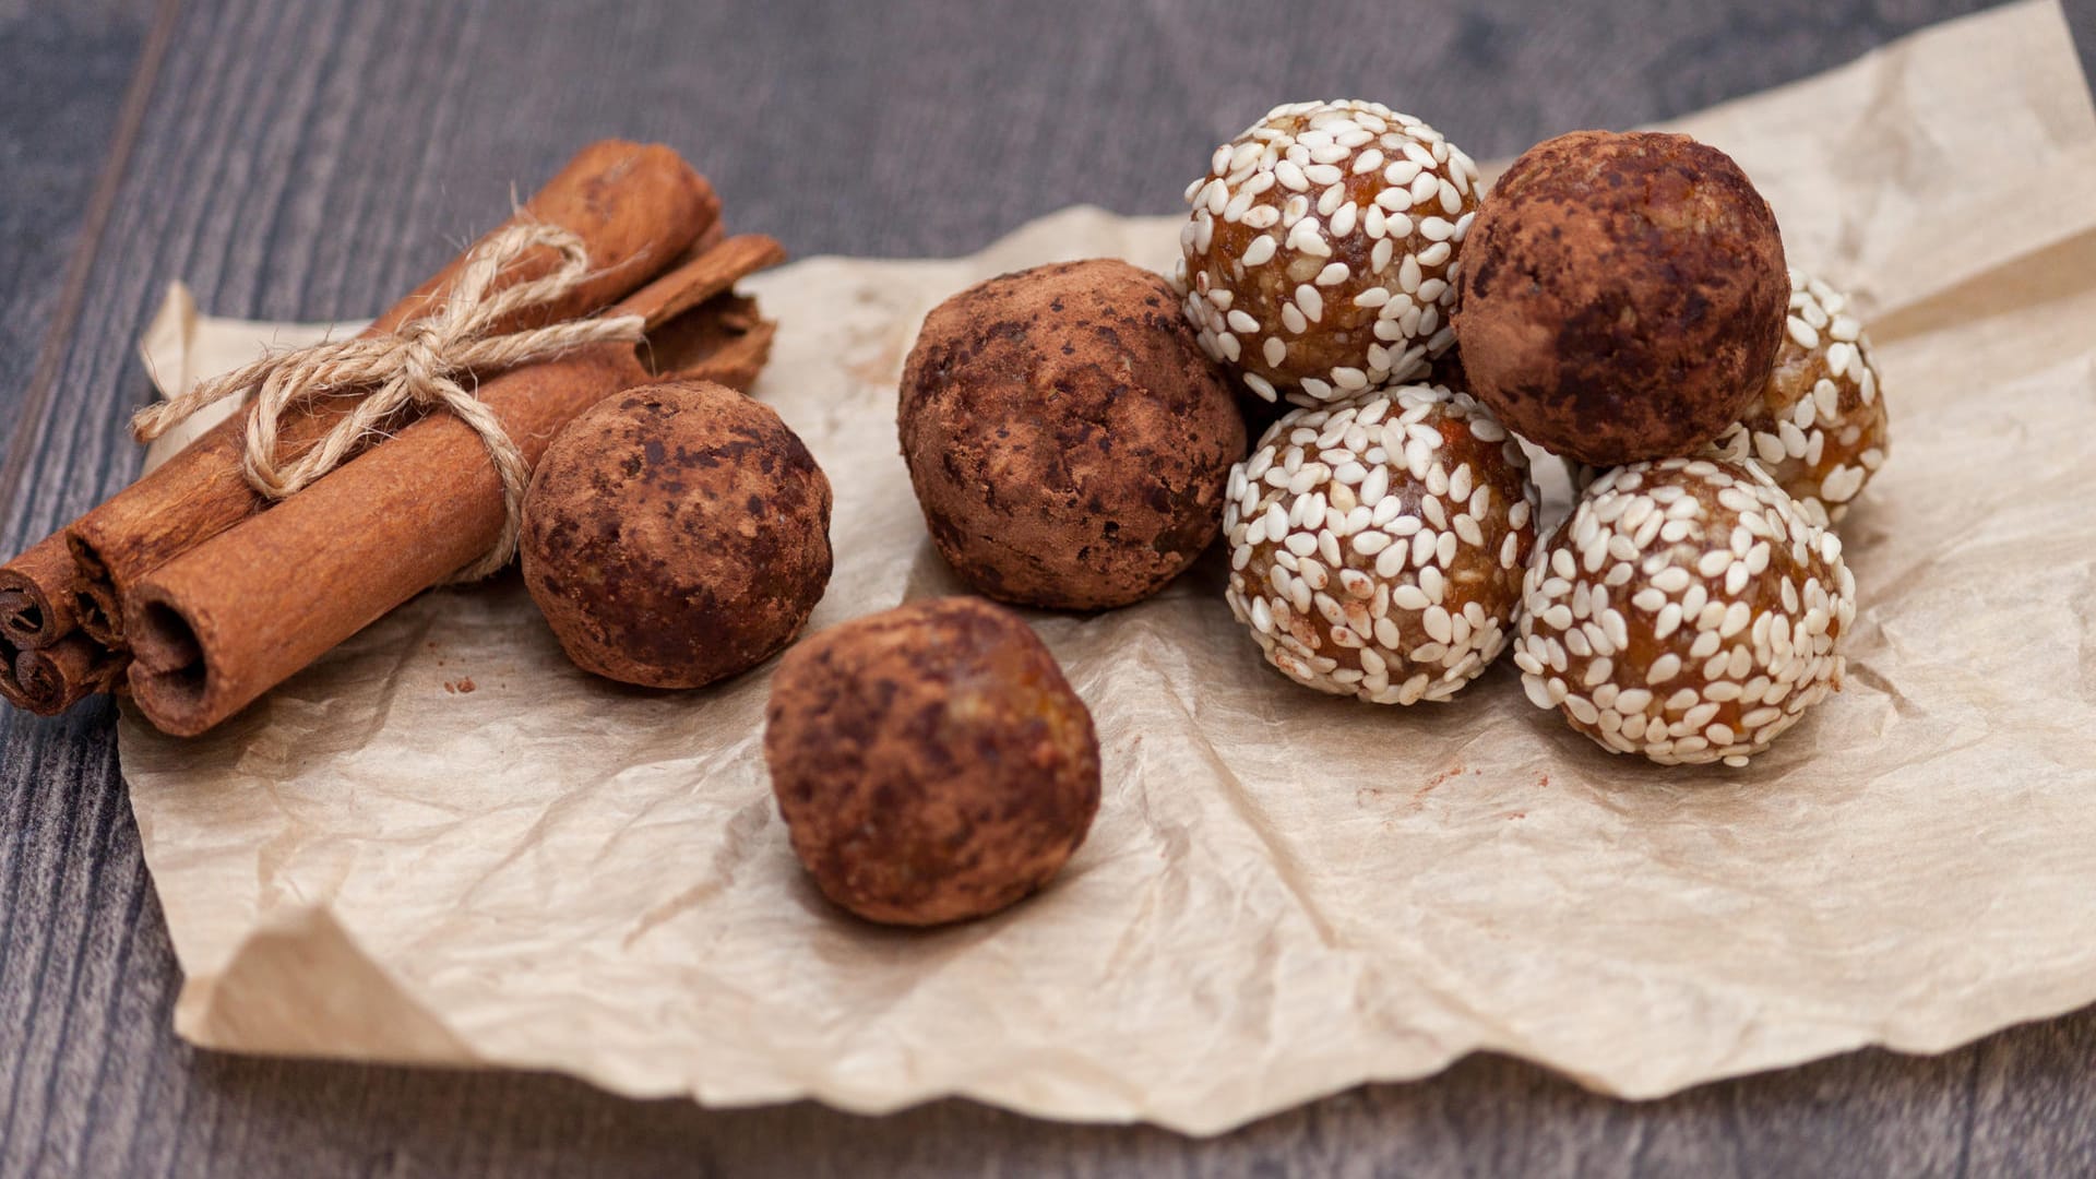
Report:
[[[702,235],[717,231],[719,199],[675,151],[660,145],[602,141],[585,147],[516,218],[566,227],[589,245],[591,279],[553,304],[530,308],[501,331],[572,319],[641,287]],[[392,331],[442,298],[465,254],[396,302],[367,334]],[[507,281],[545,275],[547,252],[507,273]],[[346,407],[316,409],[287,422],[279,453],[285,462],[312,447]],[[67,529],[80,564],[71,600],[88,629],[105,642],[124,640],[115,604],[140,577],[268,508],[241,472],[247,415],[210,430],[132,487]]]

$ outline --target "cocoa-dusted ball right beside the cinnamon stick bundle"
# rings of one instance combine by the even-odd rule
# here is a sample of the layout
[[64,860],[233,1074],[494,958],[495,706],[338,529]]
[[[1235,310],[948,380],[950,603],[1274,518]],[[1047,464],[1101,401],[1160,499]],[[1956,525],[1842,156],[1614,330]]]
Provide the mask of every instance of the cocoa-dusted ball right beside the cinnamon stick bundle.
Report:
[[518,545],[576,667],[696,688],[801,634],[830,583],[830,480],[771,407],[646,384],[553,438]]

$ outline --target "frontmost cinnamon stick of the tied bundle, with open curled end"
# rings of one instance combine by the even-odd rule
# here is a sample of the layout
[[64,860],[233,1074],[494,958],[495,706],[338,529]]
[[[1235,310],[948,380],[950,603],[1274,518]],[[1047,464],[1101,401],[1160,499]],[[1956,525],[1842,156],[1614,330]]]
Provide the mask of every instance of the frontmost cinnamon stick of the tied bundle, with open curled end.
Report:
[[[755,373],[763,352],[746,340],[769,346],[769,325],[729,290],[782,256],[769,239],[727,239],[612,313],[708,340],[677,357],[687,365],[711,363],[711,346]],[[683,308],[696,325],[675,323]],[[738,317],[750,321],[738,327]],[[576,413],[648,380],[635,346],[597,344],[484,380],[480,401],[537,464]],[[501,524],[501,478],[484,443],[432,413],[143,577],[126,598],[134,699],[163,732],[195,736],[474,562]]]

